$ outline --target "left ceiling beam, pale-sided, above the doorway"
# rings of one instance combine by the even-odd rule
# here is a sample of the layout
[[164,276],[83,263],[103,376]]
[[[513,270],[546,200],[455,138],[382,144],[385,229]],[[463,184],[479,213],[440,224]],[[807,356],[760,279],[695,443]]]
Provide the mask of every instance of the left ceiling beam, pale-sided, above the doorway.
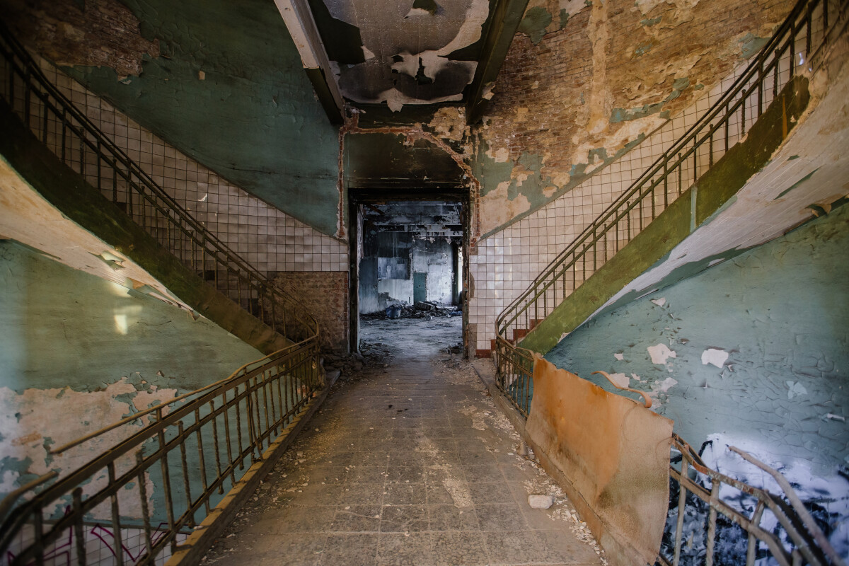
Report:
[[330,69],[330,61],[306,0],[274,0],[301,54],[301,63],[331,124],[345,121],[345,101]]

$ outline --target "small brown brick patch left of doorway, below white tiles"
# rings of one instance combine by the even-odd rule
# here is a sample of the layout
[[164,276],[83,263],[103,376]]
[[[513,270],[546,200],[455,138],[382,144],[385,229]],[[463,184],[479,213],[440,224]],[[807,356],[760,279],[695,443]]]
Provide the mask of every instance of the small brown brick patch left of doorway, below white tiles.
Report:
[[348,272],[278,272],[272,280],[316,317],[323,350],[347,351]]

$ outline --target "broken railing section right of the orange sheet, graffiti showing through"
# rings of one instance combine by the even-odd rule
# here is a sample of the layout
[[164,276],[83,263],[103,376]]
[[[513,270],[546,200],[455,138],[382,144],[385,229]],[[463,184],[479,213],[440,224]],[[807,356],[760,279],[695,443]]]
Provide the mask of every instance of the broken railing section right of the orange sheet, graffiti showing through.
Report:
[[[672,449],[681,455],[669,471],[671,499],[677,500],[678,505],[670,506],[658,563],[753,566],[756,560],[769,557],[781,566],[844,566],[843,559],[779,472],[744,451],[731,448],[747,462],[777,476],[784,491],[780,496],[708,468],[678,435],[673,435]],[[748,508],[748,513],[744,508]],[[674,530],[669,528],[672,520]],[[695,537],[700,540],[694,542]],[[717,548],[720,538],[725,542],[722,549]],[[683,548],[688,541],[689,548]]]

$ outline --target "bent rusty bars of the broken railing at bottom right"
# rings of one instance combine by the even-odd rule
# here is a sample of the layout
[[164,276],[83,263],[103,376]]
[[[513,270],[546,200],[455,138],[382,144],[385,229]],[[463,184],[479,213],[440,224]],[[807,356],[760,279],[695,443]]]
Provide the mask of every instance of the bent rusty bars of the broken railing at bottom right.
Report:
[[[786,480],[783,484],[779,481],[779,486],[784,490],[784,497],[777,496],[767,490],[746,484],[708,468],[699,454],[693,450],[693,447],[682,440],[678,434],[672,434],[672,450],[681,454],[680,469],[675,467],[675,462],[671,462],[669,467],[669,476],[674,482],[672,487],[678,485],[678,507],[670,506],[670,511],[673,512],[674,510],[677,520],[674,531],[670,533],[667,530],[664,535],[661,552],[657,559],[658,563],[665,566],[678,566],[682,562],[682,543],[689,537],[689,534],[684,532],[684,516],[690,517],[692,522],[692,518],[706,514],[707,536],[703,558],[706,564],[713,564],[717,541],[717,516],[721,514],[728,519],[728,522],[741,528],[747,536],[746,566],[753,566],[756,558],[759,558],[756,556],[759,543],[763,543],[767,547],[769,553],[781,566],[791,566],[791,564],[795,566],[801,563],[808,563],[813,566],[826,566],[828,564],[845,566],[842,558],[834,552],[828,541],[825,541],[824,545],[818,544],[819,528],[816,524],[813,524],[811,528],[806,523],[804,513],[807,513],[807,510],[801,507],[801,502],[798,505],[793,504],[794,500],[799,501],[799,497],[796,496],[796,492]],[[731,450],[748,462],[755,465],[760,463],[752,462],[754,458],[744,451],[736,448]],[[690,470],[692,470],[692,473]],[[700,474],[701,477],[695,474]],[[776,474],[784,479],[778,472]],[[700,485],[700,479],[710,481],[710,490]],[[723,485],[738,490],[743,497],[751,498],[751,503],[754,504],[753,507],[750,504],[751,514],[747,515],[734,505],[723,501],[720,497]],[[728,501],[730,501],[730,498],[728,498]],[[762,518],[767,510],[778,520],[779,526],[786,534],[786,540],[779,537],[778,529],[770,528],[767,530],[762,527]],[[800,511],[804,513],[800,513]],[[701,526],[703,523],[699,522],[698,524]],[[822,533],[819,532],[819,535],[822,535]],[[695,559],[697,557],[691,556],[689,558]],[[698,558],[701,559],[702,557],[699,556]],[[735,558],[729,559],[734,559],[736,563]]]

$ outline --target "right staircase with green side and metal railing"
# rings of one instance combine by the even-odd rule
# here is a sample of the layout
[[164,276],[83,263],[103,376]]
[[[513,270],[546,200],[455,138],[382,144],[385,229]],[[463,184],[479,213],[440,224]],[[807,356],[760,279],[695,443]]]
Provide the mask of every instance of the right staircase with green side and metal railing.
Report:
[[[845,29],[846,6],[800,0],[728,91],[498,315],[498,387],[523,416],[531,351],[550,350],[766,164],[807,106],[803,66],[811,73],[822,63]],[[734,178],[726,174],[732,160]],[[661,216],[667,221],[655,222]]]

